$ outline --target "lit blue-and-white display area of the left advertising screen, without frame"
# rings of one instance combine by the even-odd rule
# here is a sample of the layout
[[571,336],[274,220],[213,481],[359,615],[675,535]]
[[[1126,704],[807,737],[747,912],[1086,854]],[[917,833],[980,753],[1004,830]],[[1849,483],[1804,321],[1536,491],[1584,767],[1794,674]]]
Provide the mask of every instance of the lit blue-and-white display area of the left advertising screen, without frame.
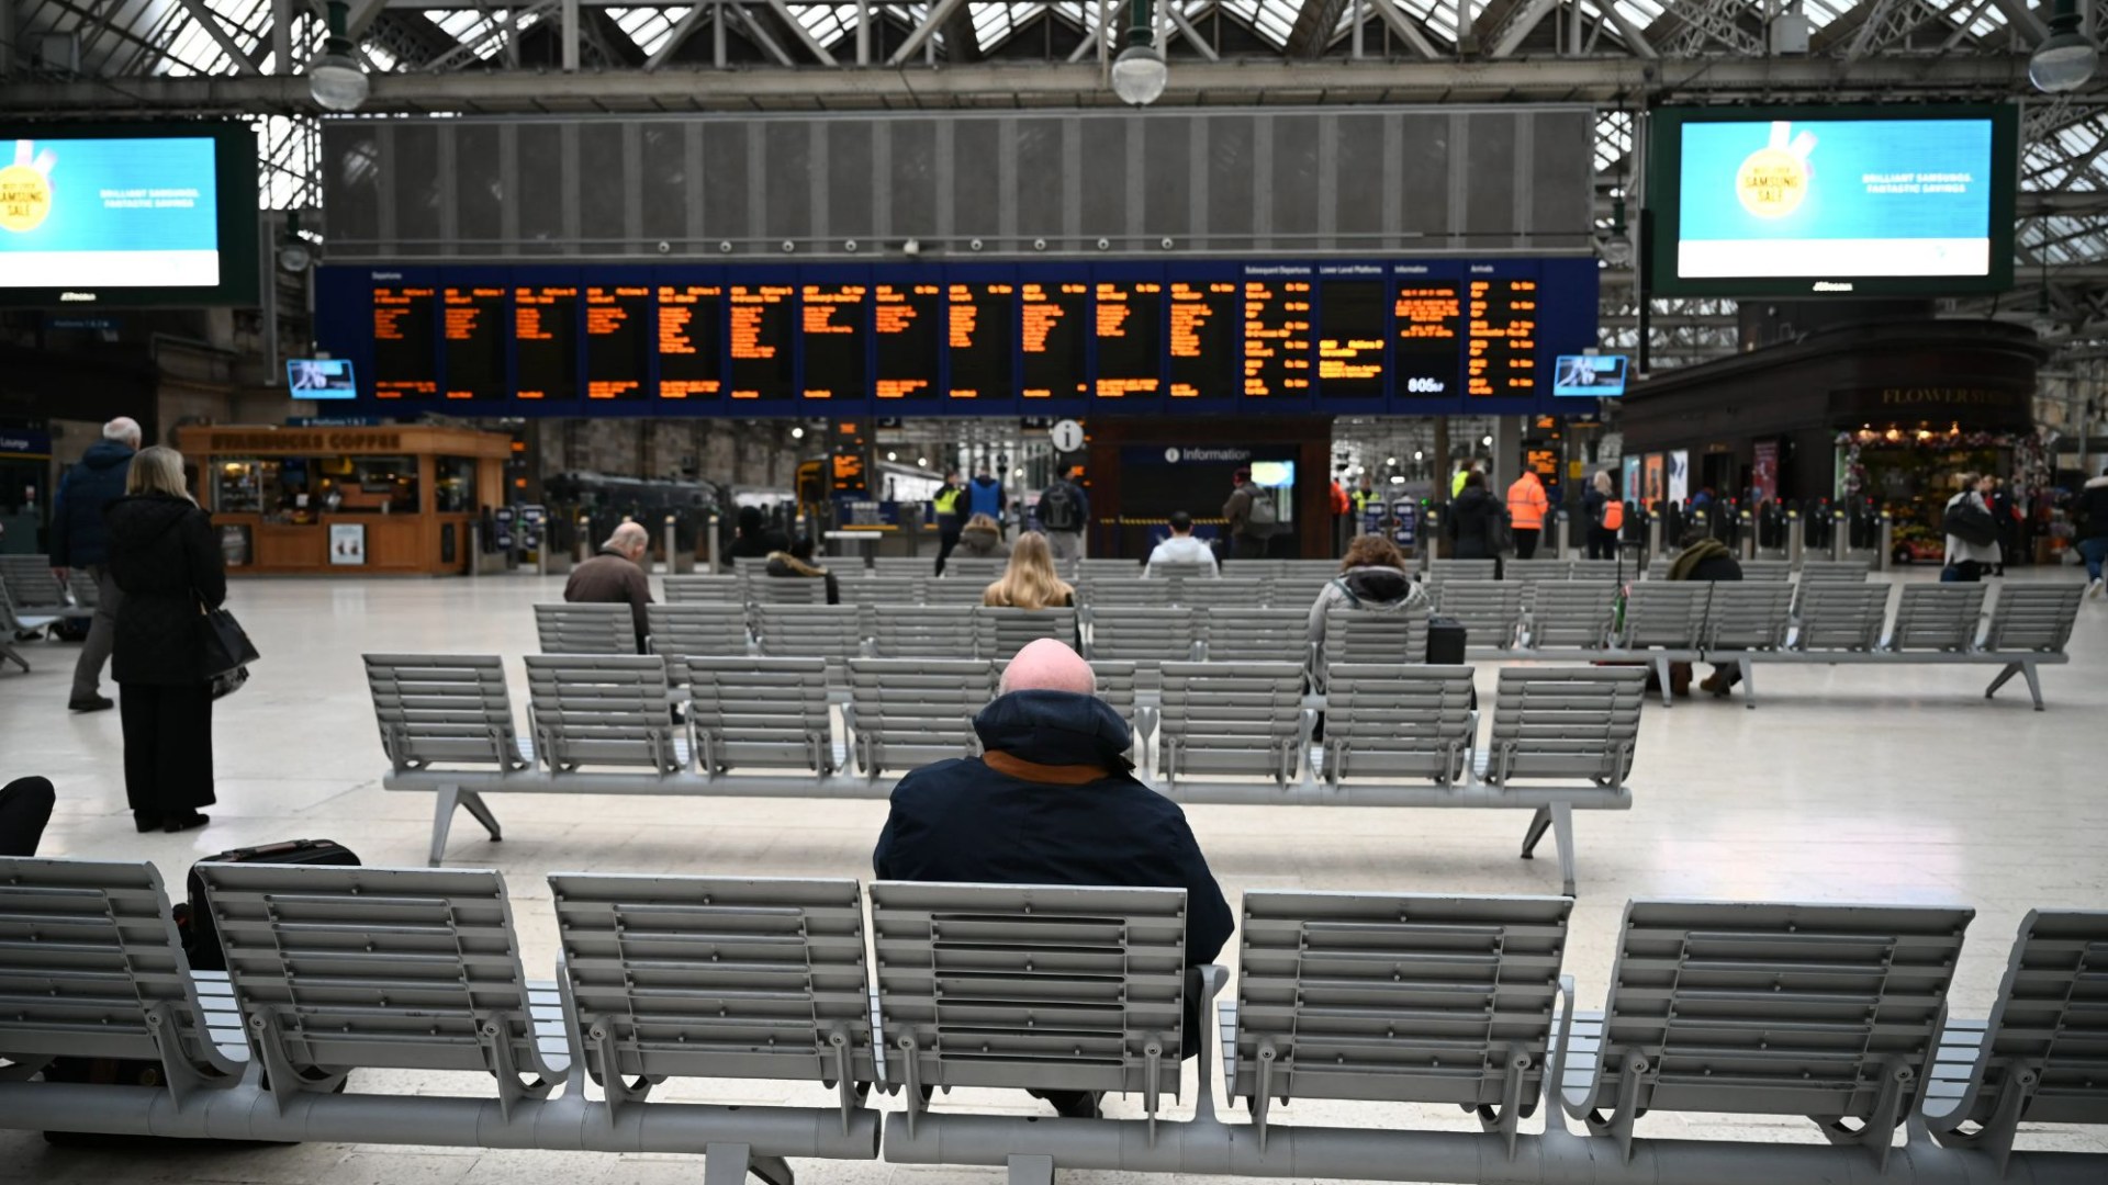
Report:
[[211,137],[15,139],[0,148],[0,287],[221,283]]

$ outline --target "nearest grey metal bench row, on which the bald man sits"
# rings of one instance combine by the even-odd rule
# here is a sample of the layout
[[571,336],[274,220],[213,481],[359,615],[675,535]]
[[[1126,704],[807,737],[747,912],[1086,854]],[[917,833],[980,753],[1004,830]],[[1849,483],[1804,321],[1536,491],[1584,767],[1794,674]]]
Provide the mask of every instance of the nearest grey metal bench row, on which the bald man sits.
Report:
[[[1581,1014],[1568,898],[1252,890],[1235,999],[1210,1010],[1229,974],[1185,968],[1183,890],[559,873],[563,953],[531,983],[491,871],[196,875],[223,974],[190,970],[152,865],[0,860],[0,1126],[702,1153],[708,1185],[881,1151],[1012,1185],[2108,1174],[2104,1153],[2013,1147],[2022,1124],[2108,1124],[2104,911],[2030,913],[1990,1016],[1965,1021],[1948,995],[1971,909],[1634,900],[1604,1010]],[[1193,1031],[1189,1006],[1216,1025]],[[59,1056],[152,1061],[162,1084],[36,1080]],[[485,1084],[367,1094],[369,1071]],[[651,1099],[668,1080],[833,1101]],[[1121,1092],[1143,1118],[934,1103],[955,1086]],[[1284,1124],[1294,1101],[1457,1105],[1480,1130]],[[1678,1113],[1807,1115],[1826,1143],[1659,1134]]]

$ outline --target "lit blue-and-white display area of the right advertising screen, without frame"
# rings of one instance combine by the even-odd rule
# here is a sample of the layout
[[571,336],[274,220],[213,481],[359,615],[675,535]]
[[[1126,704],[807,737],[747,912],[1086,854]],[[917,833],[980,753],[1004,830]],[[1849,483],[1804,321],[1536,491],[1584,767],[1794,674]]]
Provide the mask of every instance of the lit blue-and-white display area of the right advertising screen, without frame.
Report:
[[1682,124],[1676,276],[1990,276],[1990,118]]

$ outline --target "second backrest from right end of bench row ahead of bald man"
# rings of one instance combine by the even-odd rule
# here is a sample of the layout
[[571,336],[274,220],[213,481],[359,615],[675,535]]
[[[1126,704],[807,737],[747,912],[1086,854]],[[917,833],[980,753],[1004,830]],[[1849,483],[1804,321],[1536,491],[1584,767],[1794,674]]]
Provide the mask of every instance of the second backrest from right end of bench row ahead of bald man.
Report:
[[1324,772],[1341,778],[1427,778],[1469,772],[1478,715],[1469,666],[1334,664],[1326,671]]

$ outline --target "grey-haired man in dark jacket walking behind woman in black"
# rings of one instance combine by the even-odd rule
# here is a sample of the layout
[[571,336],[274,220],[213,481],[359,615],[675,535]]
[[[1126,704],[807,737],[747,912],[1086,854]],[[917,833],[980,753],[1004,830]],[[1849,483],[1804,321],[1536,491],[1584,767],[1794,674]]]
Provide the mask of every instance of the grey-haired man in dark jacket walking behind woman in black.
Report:
[[137,420],[118,415],[103,424],[103,439],[89,445],[80,462],[65,470],[51,508],[51,574],[65,584],[78,567],[95,582],[95,618],[89,622],[80,660],[74,662],[74,694],[65,700],[76,713],[99,713],[114,704],[103,696],[101,681],[124,592],[110,578],[110,527],[103,523],[103,510],[124,498],[124,472],[137,451]]

